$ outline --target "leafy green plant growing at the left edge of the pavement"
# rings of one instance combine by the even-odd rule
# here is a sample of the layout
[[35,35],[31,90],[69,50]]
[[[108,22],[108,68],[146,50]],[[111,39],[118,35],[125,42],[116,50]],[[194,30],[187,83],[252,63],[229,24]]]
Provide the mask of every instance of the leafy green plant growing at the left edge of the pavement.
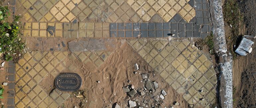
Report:
[[13,17],[13,22],[8,22],[10,16],[8,7],[0,6],[0,55],[6,61],[18,60],[23,55],[25,44],[21,39],[20,16]]

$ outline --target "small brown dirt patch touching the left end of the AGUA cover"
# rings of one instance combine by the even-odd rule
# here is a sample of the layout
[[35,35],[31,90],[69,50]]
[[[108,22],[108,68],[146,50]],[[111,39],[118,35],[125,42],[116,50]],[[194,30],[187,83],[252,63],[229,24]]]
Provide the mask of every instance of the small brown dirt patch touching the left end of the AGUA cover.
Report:
[[48,74],[39,85],[45,90],[47,94],[50,94],[54,89],[54,77],[51,74]]

